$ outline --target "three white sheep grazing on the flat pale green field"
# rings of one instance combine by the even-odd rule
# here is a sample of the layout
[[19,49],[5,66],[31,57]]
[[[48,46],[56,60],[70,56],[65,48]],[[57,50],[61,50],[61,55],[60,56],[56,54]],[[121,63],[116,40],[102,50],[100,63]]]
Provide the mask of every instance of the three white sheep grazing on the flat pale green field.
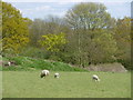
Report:
[[[49,70],[42,70],[40,77],[43,78],[43,77],[47,77],[47,76],[49,76],[49,74],[50,74],[50,71],[49,71]],[[54,73],[54,78],[59,78],[59,77],[60,77],[60,74],[59,74],[58,72]],[[100,78],[99,78],[96,74],[93,74],[93,76],[92,76],[92,79],[93,79],[94,81],[100,81]]]

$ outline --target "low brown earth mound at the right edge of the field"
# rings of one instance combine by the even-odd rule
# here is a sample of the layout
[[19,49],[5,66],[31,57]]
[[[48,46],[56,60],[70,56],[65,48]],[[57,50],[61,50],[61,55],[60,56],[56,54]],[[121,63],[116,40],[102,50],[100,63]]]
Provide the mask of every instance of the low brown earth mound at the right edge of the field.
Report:
[[127,70],[121,63],[104,63],[104,64],[91,64],[86,67],[89,71],[110,71],[110,72],[126,72]]

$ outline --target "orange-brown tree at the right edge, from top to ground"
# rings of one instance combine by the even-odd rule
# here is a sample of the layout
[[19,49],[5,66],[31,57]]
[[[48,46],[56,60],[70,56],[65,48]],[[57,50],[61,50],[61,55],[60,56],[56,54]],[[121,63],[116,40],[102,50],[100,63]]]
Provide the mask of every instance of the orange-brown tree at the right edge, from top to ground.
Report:
[[119,49],[117,60],[131,69],[131,18],[117,19],[114,38]]

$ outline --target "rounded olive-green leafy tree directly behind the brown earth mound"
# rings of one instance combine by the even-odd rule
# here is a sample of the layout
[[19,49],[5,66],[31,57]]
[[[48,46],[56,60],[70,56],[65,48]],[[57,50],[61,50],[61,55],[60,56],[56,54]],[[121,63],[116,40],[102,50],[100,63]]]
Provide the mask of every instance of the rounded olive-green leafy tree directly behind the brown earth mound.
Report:
[[93,50],[91,56],[93,61],[96,62],[111,62],[115,61],[115,54],[117,51],[116,41],[112,33],[105,30],[99,30],[95,32],[96,37],[92,40]]

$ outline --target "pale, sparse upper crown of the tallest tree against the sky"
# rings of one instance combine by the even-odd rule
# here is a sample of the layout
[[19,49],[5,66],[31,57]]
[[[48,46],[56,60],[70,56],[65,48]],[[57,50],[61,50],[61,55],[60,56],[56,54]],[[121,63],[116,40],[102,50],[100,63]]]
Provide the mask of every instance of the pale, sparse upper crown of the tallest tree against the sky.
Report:
[[72,29],[101,29],[112,28],[114,19],[102,3],[83,2],[74,6],[65,14],[65,19]]

